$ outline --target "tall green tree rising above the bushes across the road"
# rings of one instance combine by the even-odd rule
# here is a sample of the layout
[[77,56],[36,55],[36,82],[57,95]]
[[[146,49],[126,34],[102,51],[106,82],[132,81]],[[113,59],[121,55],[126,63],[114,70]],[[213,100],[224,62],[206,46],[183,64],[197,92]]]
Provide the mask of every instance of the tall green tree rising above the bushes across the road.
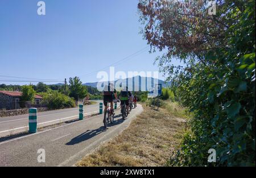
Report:
[[87,95],[86,87],[82,86],[82,82],[79,77],[69,78],[69,96],[76,101],[84,99]]

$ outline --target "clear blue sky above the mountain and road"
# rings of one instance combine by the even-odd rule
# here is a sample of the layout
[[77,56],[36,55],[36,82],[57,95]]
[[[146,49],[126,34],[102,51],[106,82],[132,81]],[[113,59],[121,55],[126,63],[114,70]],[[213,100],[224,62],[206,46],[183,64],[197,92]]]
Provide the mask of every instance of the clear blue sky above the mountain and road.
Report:
[[46,15],[39,16],[36,0],[0,1],[0,80],[78,76],[96,82],[97,70],[108,72],[127,56],[113,65],[115,71],[158,71],[153,63],[161,53],[140,51],[148,45],[139,33],[138,0],[44,2]]

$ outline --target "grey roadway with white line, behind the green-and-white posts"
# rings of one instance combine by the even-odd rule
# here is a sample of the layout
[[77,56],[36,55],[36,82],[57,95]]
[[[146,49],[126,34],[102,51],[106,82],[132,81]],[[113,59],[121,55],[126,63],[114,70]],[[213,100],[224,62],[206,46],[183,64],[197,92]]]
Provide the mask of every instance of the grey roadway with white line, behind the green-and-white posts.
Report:
[[[97,104],[85,105],[84,115],[99,112],[100,101]],[[56,124],[58,122],[73,120],[79,117],[79,108],[58,109],[54,111],[38,112],[38,128]],[[0,137],[20,133],[28,130],[28,115],[19,115],[0,118]]]

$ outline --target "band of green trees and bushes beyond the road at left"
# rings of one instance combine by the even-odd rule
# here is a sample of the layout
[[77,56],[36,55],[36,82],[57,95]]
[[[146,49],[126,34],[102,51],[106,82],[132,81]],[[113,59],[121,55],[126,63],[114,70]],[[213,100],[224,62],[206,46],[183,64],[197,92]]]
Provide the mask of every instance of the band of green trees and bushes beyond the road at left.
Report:
[[[63,109],[76,106],[78,101],[89,95],[89,99],[102,99],[101,92],[97,88],[83,86],[78,77],[69,78],[69,84],[47,85],[39,82],[36,85],[6,85],[0,84],[0,90],[21,91],[19,105],[26,108],[26,103],[35,104],[35,94],[42,96],[40,105],[48,109]],[[85,104],[95,104],[95,102],[85,102]]]

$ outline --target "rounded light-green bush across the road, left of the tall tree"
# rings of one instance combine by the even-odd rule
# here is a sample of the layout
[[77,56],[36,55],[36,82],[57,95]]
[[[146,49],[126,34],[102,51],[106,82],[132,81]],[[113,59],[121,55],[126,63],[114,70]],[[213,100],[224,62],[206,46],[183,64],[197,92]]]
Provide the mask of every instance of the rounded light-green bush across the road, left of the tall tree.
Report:
[[49,109],[61,109],[75,107],[75,100],[61,94],[58,91],[49,93],[40,93],[43,96],[43,102],[47,103]]

